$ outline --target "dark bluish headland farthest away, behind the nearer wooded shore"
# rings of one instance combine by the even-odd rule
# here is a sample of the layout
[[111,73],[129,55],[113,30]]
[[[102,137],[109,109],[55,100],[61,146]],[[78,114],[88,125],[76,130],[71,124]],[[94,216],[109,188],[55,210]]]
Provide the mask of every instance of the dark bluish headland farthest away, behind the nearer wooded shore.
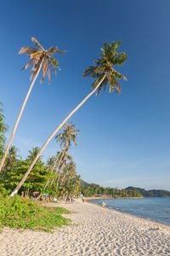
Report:
[[140,189],[140,188],[128,187],[126,190],[128,190],[128,189],[137,190],[144,197],[169,197],[170,196],[169,191],[162,190],[162,189],[145,190],[145,189]]

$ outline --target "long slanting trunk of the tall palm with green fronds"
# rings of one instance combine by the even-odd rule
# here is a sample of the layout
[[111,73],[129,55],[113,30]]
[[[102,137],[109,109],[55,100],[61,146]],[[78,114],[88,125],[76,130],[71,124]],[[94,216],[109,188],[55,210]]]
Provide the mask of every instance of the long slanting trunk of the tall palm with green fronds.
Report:
[[38,152],[37,156],[35,157],[35,159],[34,159],[33,162],[31,163],[31,166],[28,168],[27,172],[25,173],[25,176],[22,178],[22,180],[20,181],[20,183],[18,184],[18,186],[14,189],[14,191],[11,193],[11,195],[10,195],[9,197],[13,197],[15,194],[18,193],[18,191],[19,191],[19,189],[21,188],[21,186],[23,185],[23,183],[25,183],[26,177],[28,177],[29,173],[31,172],[31,169],[32,169],[33,166],[36,164],[37,159],[38,159],[38,158],[40,157],[40,155],[42,154],[42,151],[47,147],[48,143],[51,141],[51,139],[54,137],[54,135],[61,129],[61,127],[62,127],[63,125],[65,125],[66,121],[71,118],[71,116],[73,115],[73,113],[77,112],[77,110],[82,107],[82,104],[85,103],[85,102],[88,100],[88,98],[94,94],[94,92],[95,92],[96,90],[98,90],[99,85],[104,81],[105,77],[106,77],[106,74],[105,74],[105,76],[103,77],[103,79],[100,80],[100,82],[99,82],[99,84],[96,86],[96,88],[94,88],[94,90],[92,90],[92,91],[88,94],[88,96],[86,96],[86,97],[82,100],[82,102],[80,102],[80,104],[78,104],[77,107],[74,108],[74,109],[71,111],[71,113],[69,113],[69,115],[60,123],[60,125],[59,125],[59,126],[54,130],[54,132],[48,137],[47,141],[42,145],[42,148],[40,149],[40,151]]

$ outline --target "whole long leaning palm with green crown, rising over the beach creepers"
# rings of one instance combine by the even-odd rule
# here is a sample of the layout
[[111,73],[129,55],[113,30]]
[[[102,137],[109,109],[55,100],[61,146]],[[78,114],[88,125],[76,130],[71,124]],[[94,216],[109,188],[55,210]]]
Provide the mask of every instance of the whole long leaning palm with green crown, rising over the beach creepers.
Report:
[[32,167],[36,164],[38,157],[42,154],[44,148],[47,147],[48,143],[54,137],[54,135],[65,125],[66,121],[71,118],[73,113],[77,112],[79,108],[82,107],[82,104],[85,103],[90,96],[94,93],[99,95],[101,88],[103,87],[104,90],[106,88],[106,84],[109,84],[110,92],[115,92],[119,94],[121,92],[121,84],[119,83],[119,79],[127,80],[121,73],[118,73],[115,70],[116,65],[122,65],[127,60],[127,55],[125,52],[118,54],[118,46],[121,44],[121,41],[118,43],[112,42],[111,44],[105,43],[104,48],[101,49],[101,58],[94,61],[94,66],[89,67],[84,71],[83,77],[92,76],[95,78],[94,84],[92,84],[92,90],[88,96],[86,96],[80,104],[74,108],[71,113],[61,122],[61,124],[54,130],[54,132],[48,137],[47,141],[42,145],[42,148],[39,151],[37,157],[31,163],[31,166],[27,170],[25,176],[20,181],[19,185],[14,189],[14,192],[10,196],[14,196],[22,184],[25,182],[26,177],[31,172]]

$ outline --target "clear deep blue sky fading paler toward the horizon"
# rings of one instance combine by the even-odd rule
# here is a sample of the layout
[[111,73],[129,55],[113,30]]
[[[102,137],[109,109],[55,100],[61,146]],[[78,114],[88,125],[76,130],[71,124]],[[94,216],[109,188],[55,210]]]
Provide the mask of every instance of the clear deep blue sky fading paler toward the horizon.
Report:
[[[80,130],[70,154],[88,183],[170,190],[170,1],[86,0],[3,1],[0,6],[0,102],[7,141],[31,84],[28,62],[18,55],[37,38],[45,49],[58,45],[60,71],[49,85],[38,77],[26,104],[13,145],[22,159],[42,147],[48,136],[91,91],[83,71],[100,56],[105,42],[122,40],[127,77],[122,93],[91,96],[71,121]],[[59,151],[53,139],[43,160]]]

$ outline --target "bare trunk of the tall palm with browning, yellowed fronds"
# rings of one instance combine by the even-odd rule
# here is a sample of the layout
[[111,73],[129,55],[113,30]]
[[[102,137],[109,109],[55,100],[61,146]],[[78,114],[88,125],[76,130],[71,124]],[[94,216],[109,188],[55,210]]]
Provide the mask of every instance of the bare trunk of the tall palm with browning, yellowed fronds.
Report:
[[24,103],[22,104],[22,108],[20,108],[19,116],[18,116],[18,118],[17,118],[17,120],[16,120],[16,123],[15,123],[15,125],[14,125],[14,129],[13,129],[13,131],[12,131],[12,133],[11,133],[11,137],[10,137],[10,139],[9,139],[8,146],[7,146],[6,150],[5,150],[5,153],[4,153],[4,155],[3,155],[3,159],[2,159],[1,164],[0,164],[0,172],[2,171],[3,163],[4,163],[4,161],[5,161],[6,157],[7,157],[8,149],[10,148],[10,145],[11,145],[11,143],[12,143],[12,141],[13,141],[16,128],[17,128],[17,126],[18,126],[18,124],[19,124],[19,122],[20,122],[20,117],[21,117],[21,115],[22,115],[22,113],[23,113],[23,111],[24,111],[24,108],[25,108],[25,106],[26,106],[26,102],[27,102],[27,100],[28,100],[28,97],[30,96],[32,87],[33,87],[33,85],[34,85],[34,83],[35,83],[35,81],[36,81],[36,79],[37,79],[38,74],[40,73],[41,68],[42,68],[42,63],[40,64],[40,67],[39,67],[39,69],[38,69],[38,71],[37,71],[37,74],[36,74],[35,78],[33,79],[32,83],[31,83],[30,89],[29,89],[28,92],[27,92],[25,101],[24,101]]

